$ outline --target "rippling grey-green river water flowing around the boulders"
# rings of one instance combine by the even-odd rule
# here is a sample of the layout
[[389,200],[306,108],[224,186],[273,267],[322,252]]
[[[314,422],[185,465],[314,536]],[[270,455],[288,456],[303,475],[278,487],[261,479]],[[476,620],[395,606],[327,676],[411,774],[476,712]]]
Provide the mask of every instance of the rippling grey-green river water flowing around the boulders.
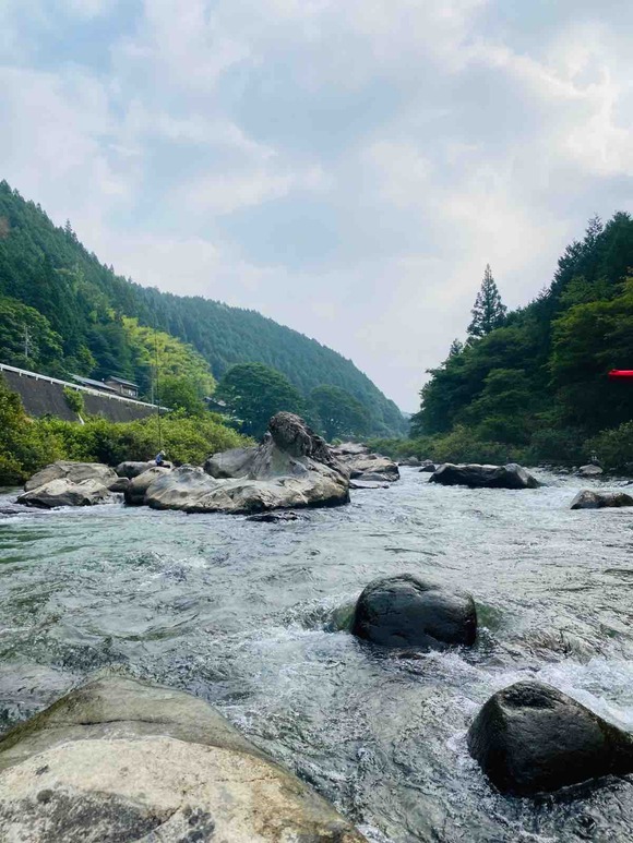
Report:
[[[119,504],[7,517],[0,728],[122,664],[216,704],[377,843],[629,842],[633,779],[511,798],[466,749],[480,706],[526,677],[633,730],[633,515],[571,511],[582,481],[542,479],[469,491],[405,469],[279,525]],[[367,582],[404,571],[471,591],[473,650],[337,629]]]

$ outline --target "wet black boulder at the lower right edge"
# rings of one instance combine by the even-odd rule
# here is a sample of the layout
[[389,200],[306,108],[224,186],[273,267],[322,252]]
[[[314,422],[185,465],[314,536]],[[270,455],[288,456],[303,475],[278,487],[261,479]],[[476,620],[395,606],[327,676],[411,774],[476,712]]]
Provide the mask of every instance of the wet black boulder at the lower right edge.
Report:
[[633,772],[631,735],[538,682],[494,694],[470,726],[468,748],[500,791],[519,796]]

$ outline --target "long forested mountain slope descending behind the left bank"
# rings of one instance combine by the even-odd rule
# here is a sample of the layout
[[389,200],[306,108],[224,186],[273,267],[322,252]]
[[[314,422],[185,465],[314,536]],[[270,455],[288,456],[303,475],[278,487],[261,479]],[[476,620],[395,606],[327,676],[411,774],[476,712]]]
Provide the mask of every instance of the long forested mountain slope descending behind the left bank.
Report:
[[255,311],[118,276],[86,251],[70,224],[56,227],[38,205],[1,182],[0,359],[62,376],[117,374],[143,383],[147,354],[132,337],[140,339],[139,327],[187,344],[215,378],[237,363],[264,363],[304,396],[322,385],[347,390],[367,410],[373,433],[403,432],[395,404],[350,360]]

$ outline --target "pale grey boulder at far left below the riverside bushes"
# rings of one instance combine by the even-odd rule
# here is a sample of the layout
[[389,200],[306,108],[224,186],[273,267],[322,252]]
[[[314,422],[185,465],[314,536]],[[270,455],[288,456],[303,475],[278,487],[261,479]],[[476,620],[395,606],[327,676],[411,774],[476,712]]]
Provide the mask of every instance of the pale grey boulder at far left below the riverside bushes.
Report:
[[98,462],[59,460],[41,469],[24,485],[17,503],[51,509],[56,506],[93,506],[114,492],[124,491],[121,478]]

